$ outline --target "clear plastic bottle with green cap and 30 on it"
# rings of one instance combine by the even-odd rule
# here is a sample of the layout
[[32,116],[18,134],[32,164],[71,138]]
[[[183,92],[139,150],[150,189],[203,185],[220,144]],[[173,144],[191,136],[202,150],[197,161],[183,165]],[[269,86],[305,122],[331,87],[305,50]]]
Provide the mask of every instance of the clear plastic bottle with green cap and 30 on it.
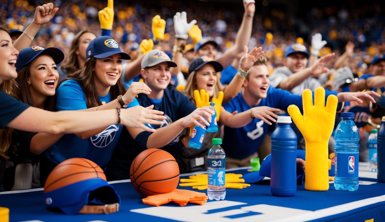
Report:
[[213,147],[209,150],[207,158],[207,195],[210,200],[223,200],[226,196],[224,185],[226,154],[221,147],[221,138],[213,138],[212,143]]

